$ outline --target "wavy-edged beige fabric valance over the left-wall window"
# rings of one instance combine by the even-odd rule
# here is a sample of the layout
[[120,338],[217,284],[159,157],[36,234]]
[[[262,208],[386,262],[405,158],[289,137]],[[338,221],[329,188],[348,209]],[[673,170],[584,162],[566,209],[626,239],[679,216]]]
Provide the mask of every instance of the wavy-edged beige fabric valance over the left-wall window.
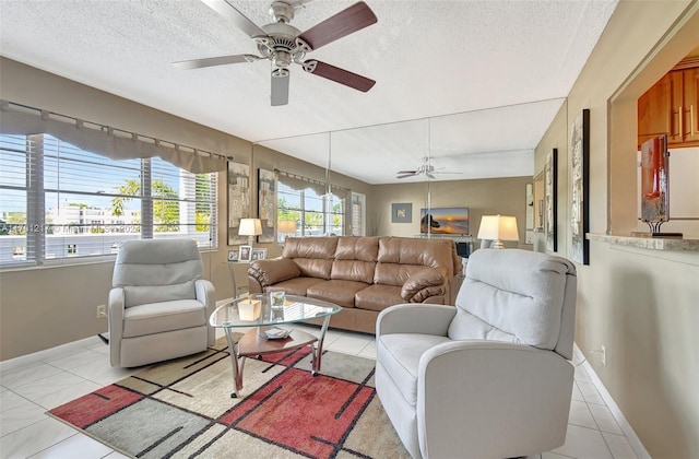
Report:
[[48,133],[81,150],[111,160],[157,156],[193,174],[225,170],[228,158],[9,101],[0,101],[0,132],[23,136]]

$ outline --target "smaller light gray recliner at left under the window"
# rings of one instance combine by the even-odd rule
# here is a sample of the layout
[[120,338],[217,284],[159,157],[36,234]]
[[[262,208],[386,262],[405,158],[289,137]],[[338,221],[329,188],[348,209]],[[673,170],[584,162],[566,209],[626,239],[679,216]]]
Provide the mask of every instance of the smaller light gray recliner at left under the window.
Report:
[[129,240],[109,292],[111,366],[133,367],[205,351],[214,286],[191,239]]

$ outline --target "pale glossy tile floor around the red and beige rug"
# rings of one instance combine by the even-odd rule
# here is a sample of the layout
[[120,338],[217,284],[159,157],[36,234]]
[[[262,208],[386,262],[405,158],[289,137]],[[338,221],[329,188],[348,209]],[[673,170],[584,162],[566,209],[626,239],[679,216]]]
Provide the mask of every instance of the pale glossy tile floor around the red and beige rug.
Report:
[[[324,348],[376,358],[376,343],[369,334],[330,330]],[[133,372],[110,367],[108,346],[97,337],[3,362],[0,366],[0,458],[125,457],[45,413]],[[576,367],[566,444],[544,452],[543,459],[637,458],[593,380],[584,366]]]

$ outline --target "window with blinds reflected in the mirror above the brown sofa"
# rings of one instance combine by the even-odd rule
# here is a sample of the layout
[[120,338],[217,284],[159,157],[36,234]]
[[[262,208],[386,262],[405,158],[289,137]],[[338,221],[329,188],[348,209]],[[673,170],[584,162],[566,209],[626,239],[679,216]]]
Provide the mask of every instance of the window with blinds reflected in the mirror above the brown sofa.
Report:
[[324,185],[281,174],[277,181],[277,222],[296,223],[296,232],[277,233],[277,242],[287,236],[344,234],[345,200],[339,190],[328,195]]

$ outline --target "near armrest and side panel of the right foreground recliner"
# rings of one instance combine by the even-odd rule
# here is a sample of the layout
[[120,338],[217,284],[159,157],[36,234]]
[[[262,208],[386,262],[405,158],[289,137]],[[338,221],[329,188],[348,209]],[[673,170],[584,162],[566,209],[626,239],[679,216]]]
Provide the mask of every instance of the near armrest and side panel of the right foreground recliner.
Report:
[[[420,449],[457,457],[463,451],[450,449],[449,439],[464,436],[460,444],[470,445],[473,457],[514,457],[561,446],[573,369],[555,352],[525,344],[466,340],[436,345],[419,360]],[[544,435],[540,423],[548,426]],[[508,438],[494,432],[507,432]],[[537,438],[534,444],[532,438]],[[522,450],[522,445],[532,449]]]

